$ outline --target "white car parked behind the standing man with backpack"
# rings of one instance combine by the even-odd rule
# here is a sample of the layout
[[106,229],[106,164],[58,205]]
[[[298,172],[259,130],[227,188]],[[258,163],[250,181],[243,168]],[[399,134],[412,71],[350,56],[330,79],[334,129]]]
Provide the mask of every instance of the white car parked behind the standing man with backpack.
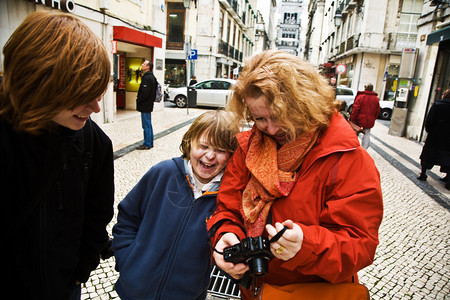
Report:
[[[200,81],[189,87],[197,94],[197,106],[224,107],[227,105],[230,96],[230,88],[236,80],[225,78],[213,78]],[[173,89],[169,92],[167,101],[175,103],[178,107],[186,107],[187,91],[186,87]],[[189,104],[192,107],[192,104]]]

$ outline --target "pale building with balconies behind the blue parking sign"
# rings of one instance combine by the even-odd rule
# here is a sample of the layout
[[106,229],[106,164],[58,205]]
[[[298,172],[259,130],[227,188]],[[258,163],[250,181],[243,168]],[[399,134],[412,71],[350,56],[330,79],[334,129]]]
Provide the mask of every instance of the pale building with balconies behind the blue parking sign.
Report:
[[[244,59],[255,52],[256,1],[197,0],[185,8],[170,0],[167,6],[165,83],[186,86],[194,75],[197,81],[236,78]],[[178,44],[172,44],[174,35]]]

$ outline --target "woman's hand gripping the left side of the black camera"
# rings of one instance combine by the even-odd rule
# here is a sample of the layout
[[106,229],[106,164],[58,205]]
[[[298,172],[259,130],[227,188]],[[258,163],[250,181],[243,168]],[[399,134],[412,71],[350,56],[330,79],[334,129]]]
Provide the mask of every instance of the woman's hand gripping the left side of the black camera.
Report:
[[[225,249],[226,247],[233,246],[239,243],[240,241],[237,236],[234,233],[228,232],[225,233],[217,242],[216,250],[223,252],[223,249]],[[223,258],[223,255],[217,252],[213,252],[213,257],[217,266],[236,280],[241,279],[244,276],[244,273],[249,270],[248,265],[244,263],[233,264],[231,262],[226,262]]]

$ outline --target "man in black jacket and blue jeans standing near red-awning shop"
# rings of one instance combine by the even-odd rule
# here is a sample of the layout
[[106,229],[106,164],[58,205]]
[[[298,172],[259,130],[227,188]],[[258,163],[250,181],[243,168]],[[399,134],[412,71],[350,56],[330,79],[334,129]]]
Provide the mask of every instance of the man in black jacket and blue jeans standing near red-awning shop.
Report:
[[156,97],[156,78],[152,73],[152,62],[146,60],[142,63],[141,67],[144,75],[142,76],[141,85],[139,86],[136,109],[141,112],[144,143],[137,149],[148,150],[153,148],[152,111]]

